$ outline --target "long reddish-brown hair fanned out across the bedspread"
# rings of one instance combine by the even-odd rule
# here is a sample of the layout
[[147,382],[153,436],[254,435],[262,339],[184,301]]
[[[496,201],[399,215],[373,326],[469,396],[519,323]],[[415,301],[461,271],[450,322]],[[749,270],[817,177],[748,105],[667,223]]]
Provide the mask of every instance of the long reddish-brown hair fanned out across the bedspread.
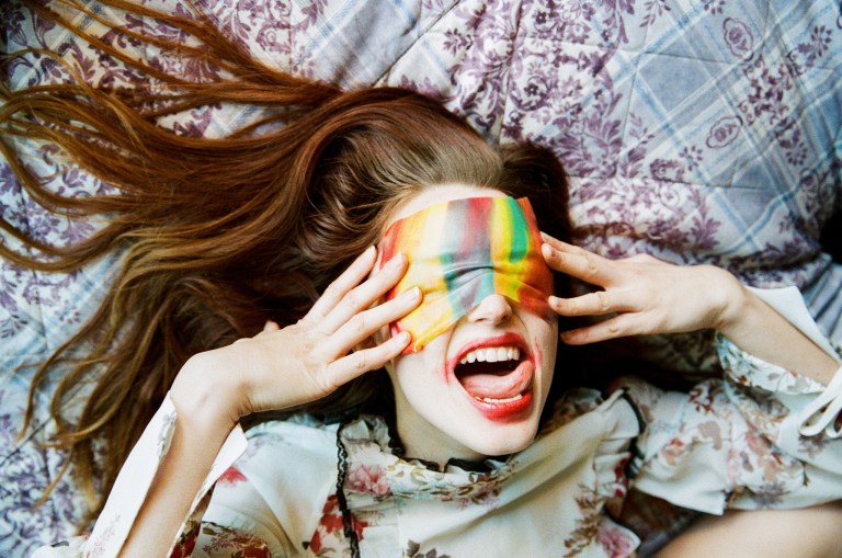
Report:
[[[77,0],[69,3],[101,18]],[[201,82],[170,76],[32,5],[148,82],[110,90],[77,76],[70,83],[2,91],[0,146],[23,187],[53,212],[103,215],[107,225],[62,248],[3,220],[7,232],[39,255],[2,244],[0,255],[34,270],[69,272],[124,251],[90,321],[41,365],[26,412],[29,422],[36,389],[57,376],[50,405],[56,443],[69,452],[92,514],[102,504],[93,479],[106,493],[190,355],[253,335],[269,319],[295,322],[377,241],[389,210],[419,189],[458,182],[527,195],[542,228],[569,238],[564,172],[548,151],[491,147],[440,103],[411,91],[343,92],[289,76],[249,56],[201,13],[185,18],[121,0],[103,3],[157,18],[200,46],[117,31],[220,71]],[[257,105],[263,116],[223,138],[178,135],[157,124],[161,116],[219,103]],[[117,193],[78,198],[49,191],[27,170],[15,149],[18,136],[59,146]],[[78,348],[83,356],[71,358]],[[81,414],[70,420],[66,401],[91,380]],[[384,388],[372,382],[376,376],[366,375],[312,408],[375,401]],[[95,458],[98,440],[107,451]]]

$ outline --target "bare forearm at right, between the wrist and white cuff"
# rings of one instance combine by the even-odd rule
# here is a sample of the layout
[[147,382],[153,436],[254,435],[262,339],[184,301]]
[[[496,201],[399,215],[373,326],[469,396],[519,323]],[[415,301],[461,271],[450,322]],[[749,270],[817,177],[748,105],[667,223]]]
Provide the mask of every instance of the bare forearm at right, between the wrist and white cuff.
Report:
[[717,330],[744,352],[824,385],[839,369],[833,356],[742,285]]

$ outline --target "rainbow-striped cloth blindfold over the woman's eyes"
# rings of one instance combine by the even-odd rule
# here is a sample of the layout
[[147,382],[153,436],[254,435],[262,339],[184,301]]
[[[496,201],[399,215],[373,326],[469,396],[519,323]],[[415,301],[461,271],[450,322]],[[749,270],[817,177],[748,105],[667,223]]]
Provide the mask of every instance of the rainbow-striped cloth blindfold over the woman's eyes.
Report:
[[454,200],[395,221],[380,242],[380,265],[402,252],[409,267],[386,299],[416,285],[424,299],[391,324],[392,335],[408,331],[405,352],[418,352],[494,293],[547,317],[553,276],[541,243],[525,197]]

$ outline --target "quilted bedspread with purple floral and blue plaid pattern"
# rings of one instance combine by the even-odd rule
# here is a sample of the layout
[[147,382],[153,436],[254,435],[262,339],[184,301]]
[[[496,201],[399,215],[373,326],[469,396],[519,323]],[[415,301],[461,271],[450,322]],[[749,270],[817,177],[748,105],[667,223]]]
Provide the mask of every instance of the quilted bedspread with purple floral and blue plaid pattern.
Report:
[[[144,0],[182,10],[185,0]],[[571,176],[579,241],[611,257],[646,251],[726,266],[758,286],[797,285],[842,341],[842,267],[821,253],[842,207],[842,7],[838,0],[202,0],[272,64],[348,87],[383,83],[442,99],[497,141],[531,140]],[[110,13],[105,11],[105,13]],[[155,22],[126,20],[144,32]],[[91,81],[137,79],[15,1],[0,2],[3,55],[49,48]],[[89,31],[133,56],[202,75],[173,56]],[[69,79],[38,54],[7,66],[11,87]],[[219,135],[253,115],[194,111],[167,125]],[[107,190],[32,146],[57,190]],[[36,238],[72,242],[96,226],[47,214],[0,160],[0,210]],[[13,239],[3,237],[3,242]],[[90,314],[117,255],[71,275],[0,261],[0,555],[72,534],[84,502],[68,481],[35,506],[61,465],[44,448],[42,406],[19,439],[32,364]],[[709,338],[648,340],[647,355],[707,369]],[[36,395],[48,400],[49,389]]]

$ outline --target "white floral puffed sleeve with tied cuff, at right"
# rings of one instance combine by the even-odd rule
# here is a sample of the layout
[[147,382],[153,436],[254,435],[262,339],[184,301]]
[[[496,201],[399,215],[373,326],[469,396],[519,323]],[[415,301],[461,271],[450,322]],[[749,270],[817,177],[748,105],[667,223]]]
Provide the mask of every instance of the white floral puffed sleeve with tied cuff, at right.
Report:
[[[839,362],[798,289],[752,291]],[[717,351],[724,378],[690,394],[626,380],[647,424],[632,464],[635,487],[707,513],[842,499],[842,440],[833,437],[840,373],[826,387],[721,335]]]

